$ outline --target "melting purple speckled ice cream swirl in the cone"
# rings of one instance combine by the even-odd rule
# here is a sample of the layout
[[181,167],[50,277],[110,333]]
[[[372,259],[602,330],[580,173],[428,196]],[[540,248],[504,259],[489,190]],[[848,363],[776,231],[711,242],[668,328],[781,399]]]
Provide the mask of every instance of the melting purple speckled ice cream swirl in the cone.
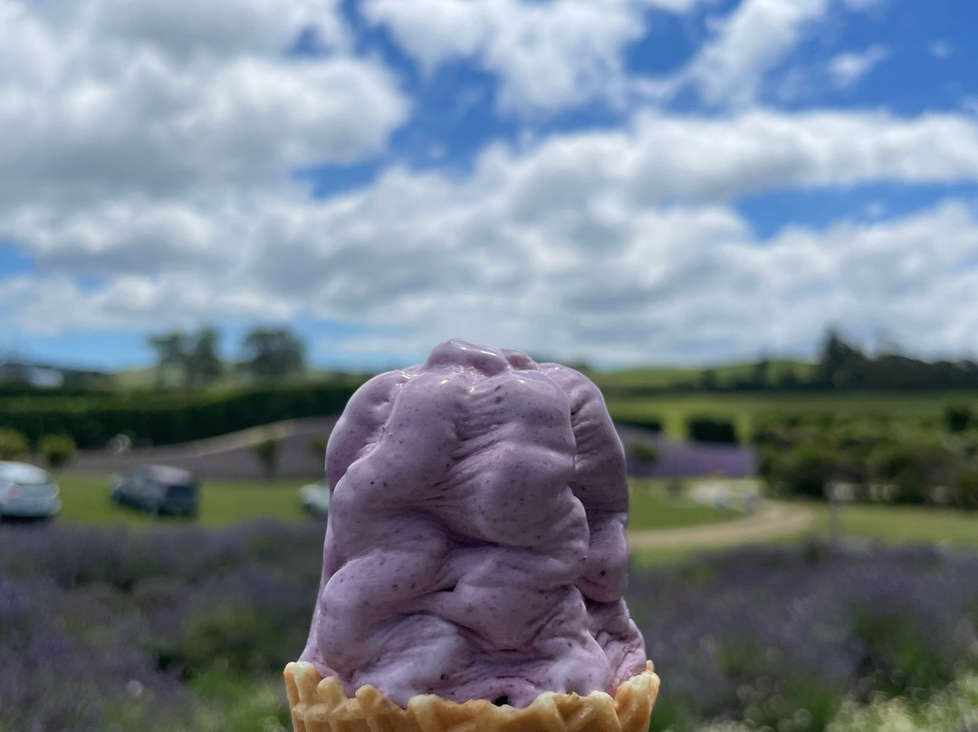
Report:
[[573,369],[452,340],[375,377],[330,437],[323,580],[301,661],[371,684],[529,705],[645,668],[622,599],[625,457]]

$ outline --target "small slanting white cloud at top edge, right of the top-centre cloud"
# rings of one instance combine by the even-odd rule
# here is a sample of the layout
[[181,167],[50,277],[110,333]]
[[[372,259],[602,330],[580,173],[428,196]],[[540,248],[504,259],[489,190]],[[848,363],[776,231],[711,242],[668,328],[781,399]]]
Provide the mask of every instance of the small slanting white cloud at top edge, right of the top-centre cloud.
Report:
[[828,14],[829,0],[742,0],[682,74],[713,105],[745,107],[766,74]]

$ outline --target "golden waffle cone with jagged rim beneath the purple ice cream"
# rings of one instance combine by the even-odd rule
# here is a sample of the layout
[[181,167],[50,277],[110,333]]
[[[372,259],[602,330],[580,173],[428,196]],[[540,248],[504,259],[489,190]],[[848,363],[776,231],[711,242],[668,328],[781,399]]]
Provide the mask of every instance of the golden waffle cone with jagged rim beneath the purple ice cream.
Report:
[[361,686],[350,699],[337,679],[298,662],[286,666],[286,691],[295,732],[645,732],[659,677],[649,661],[614,698],[600,691],[586,697],[544,692],[515,709],[425,694],[401,709],[373,686]]

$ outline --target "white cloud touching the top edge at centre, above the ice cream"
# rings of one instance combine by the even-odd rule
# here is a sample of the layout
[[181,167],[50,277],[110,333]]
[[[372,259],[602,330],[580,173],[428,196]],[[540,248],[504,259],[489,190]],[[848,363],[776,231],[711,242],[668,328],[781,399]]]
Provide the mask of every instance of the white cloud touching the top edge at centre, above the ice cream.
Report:
[[501,81],[503,110],[551,113],[600,99],[620,103],[625,47],[648,8],[686,13],[700,0],[365,0],[425,69],[474,60]]

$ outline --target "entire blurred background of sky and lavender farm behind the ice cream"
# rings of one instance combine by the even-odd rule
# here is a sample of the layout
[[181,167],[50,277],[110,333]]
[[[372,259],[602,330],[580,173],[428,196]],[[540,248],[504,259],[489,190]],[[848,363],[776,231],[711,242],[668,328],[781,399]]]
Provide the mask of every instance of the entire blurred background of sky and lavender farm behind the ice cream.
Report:
[[350,394],[590,376],[657,732],[978,730],[978,7],[0,0],[0,730],[289,729]]

